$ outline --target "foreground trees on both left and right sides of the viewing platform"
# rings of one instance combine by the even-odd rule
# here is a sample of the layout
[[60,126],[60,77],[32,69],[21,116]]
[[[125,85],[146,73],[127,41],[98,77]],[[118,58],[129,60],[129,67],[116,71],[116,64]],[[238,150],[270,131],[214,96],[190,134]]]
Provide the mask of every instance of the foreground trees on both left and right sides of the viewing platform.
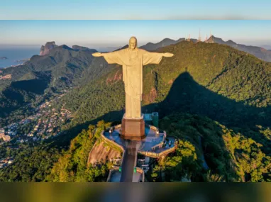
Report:
[[[0,180],[106,181],[111,162],[88,167],[87,159],[94,143],[101,140],[101,130],[109,125],[104,121],[89,125],[61,152],[47,144],[21,148],[15,162],[1,170]],[[179,140],[175,153],[155,165],[149,176],[152,181],[271,181],[270,150],[265,150],[270,142],[261,145],[250,134],[237,132],[240,128],[229,129],[217,121],[189,113],[162,118],[160,128]],[[258,129],[247,132],[270,138],[270,128]],[[1,152],[6,155],[6,151]]]

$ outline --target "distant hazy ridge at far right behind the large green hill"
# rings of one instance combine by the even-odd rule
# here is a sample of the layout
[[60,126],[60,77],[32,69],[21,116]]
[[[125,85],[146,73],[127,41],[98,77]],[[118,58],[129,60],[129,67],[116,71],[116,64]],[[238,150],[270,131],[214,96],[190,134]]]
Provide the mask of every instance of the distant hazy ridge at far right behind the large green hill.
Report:
[[255,55],[256,57],[265,60],[267,62],[271,62],[271,51],[266,50],[263,47],[253,46],[253,45],[243,45],[233,42],[232,40],[224,41],[221,38],[216,38],[212,35],[206,42],[214,41],[214,43],[225,44],[231,47],[234,47],[238,50],[242,50],[244,52],[248,52],[251,55]]

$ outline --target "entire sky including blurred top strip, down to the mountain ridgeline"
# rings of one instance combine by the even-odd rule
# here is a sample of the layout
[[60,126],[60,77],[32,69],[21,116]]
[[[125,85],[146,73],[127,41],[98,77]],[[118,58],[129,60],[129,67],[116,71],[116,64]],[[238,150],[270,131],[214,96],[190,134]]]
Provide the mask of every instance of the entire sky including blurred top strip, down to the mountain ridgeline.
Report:
[[0,0],[0,47],[121,47],[164,38],[213,34],[245,45],[271,46],[271,1]]

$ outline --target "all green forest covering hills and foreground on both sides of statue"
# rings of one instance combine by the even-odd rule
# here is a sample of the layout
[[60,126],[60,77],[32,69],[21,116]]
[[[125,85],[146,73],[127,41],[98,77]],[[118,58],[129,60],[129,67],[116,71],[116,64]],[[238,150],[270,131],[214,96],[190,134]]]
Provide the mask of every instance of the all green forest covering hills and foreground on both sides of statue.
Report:
[[[50,80],[45,92],[74,86],[59,103],[59,107],[65,106],[72,111],[74,119],[63,126],[65,135],[53,140],[57,149],[40,145],[18,152],[12,167],[1,170],[1,181],[105,180],[110,164],[96,169],[87,167],[86,162],[89,150],[98,139],[95,135],[98,130],[93,124],[99,120],[119,121],[123,116],[125,94],[121,67],[107,66],[102,58],[91,63],[92,58],[82,52],[57,48],[50,53],[55,57],[31,58],[40,69],[35,69],[33,63],[23,68],[50,72],[45,77]],[[61,48],[65,52],[60,52]],[[160,128],[177,136],[179,143],[174,155],[160,160],[151,179],[180,181],[188,177],[192,181],[270,181],[271,64],[216,43],[182,41],[157,52],[172,52],[175,56],[163,58],[160,64],[143,67],[143,113],[158,111]],[[79,55],[82,60],[74,59]],[[63,58],[69,58],[70,62]],[[84,63],[84,60],[88,62]],[[21,71],[25,71],[23,68]],[[28,74],[27,71],[9,71],[13,71],[15,79],[41,78],[39,74]],[[19,94],[25,90],[18,89],[16,83],[8,86]],[[30,95],[37,96],[38,91],[32,89],[32,94],[30,92],[28,99],[23,97],[21,100],[35,99]],[[4,106],[11,99],[3,96],[1,101]],[[13,101],[13,106],[17,106],[18,99]],[[105,125],[99,124],[101,127]],[[74,140],[69,144],[72,138]],[[70,148],[56,152],[60,150],[60,142]],[[38,151],[44,152],[48,159],[38,156]],[[61,157],[58,159],[59,153]],[[204,159],[209,169],[204,167]],[[26,170],[20,171],[21,167]],[[165,177],[160,176],[161,171]]]

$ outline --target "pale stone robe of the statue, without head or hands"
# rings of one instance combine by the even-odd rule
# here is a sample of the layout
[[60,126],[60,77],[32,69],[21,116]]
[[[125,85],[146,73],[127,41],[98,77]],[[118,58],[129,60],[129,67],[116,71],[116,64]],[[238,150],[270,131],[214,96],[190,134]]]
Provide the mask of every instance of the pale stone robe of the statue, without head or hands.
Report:
[[109,64],[120,64],[123,67],[123,82],[126,93],[125,118],[140,118],[143,93],[143,65],[159,64],[162,53],[129,48],[103,53]]

